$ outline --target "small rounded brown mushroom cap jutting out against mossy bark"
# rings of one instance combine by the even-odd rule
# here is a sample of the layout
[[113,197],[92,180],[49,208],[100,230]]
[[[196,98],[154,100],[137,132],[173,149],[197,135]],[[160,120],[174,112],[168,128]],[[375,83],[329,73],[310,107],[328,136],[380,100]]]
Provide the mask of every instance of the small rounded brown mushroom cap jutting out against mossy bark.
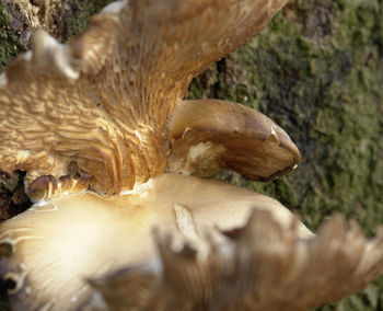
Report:
[[212,175],[225,168],[266,182],[300,160],[295,145],[271,119],[227,101],[184,101],[169,128],[171,172]]

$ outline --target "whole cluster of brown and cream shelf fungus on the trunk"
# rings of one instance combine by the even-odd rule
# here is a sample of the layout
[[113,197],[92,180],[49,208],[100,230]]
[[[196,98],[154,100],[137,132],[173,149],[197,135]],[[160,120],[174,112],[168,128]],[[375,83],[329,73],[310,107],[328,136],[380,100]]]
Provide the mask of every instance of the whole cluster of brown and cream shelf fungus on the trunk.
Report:
[[[271,181],[300,153],[240,104],[184,101],[190,80],[286,0],[129,0],[66,44],[46,32],[0,77],[0,169],[34,205],[0,224],[14,310],[306,310],[383,269],[340,217],[317,235],[286,207],[204,176]],[[155,230],[153,231],[153,229]]]

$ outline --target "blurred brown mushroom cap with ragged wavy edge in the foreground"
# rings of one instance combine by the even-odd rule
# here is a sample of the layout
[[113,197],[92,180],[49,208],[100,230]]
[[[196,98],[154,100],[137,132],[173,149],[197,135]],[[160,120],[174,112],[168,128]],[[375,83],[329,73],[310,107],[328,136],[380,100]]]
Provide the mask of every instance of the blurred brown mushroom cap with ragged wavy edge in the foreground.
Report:
[[295,230],[254,210],[231,240],[207,239],[205,256],[156,235],[155,262],[92,280],[95,295],[81,310],[304,311],[361,290],[383,270],[383,228],[367,241],[356,222],[335,216],[317,237],[302,240]]

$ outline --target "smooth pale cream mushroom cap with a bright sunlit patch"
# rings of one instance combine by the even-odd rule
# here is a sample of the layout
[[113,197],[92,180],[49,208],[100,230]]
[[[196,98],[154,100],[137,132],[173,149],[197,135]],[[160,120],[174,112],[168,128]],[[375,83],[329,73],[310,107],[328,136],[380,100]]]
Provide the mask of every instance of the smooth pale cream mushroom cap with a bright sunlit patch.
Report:
[[[73,310],[91,292],[86,278],[154,260],[153,228],[197,243],[207,229],[243,227],[253,208],[270,210],[286,229],[298,221],[269,197],[179,174],[162,174],[121,196],[60,196],[1,223],[0,251],[11,256],[0,262],[0,274],[15,283],[13,310]],[[312,235],[298,227],[300,237]],[[217,231],[212,237],[223,239]]]

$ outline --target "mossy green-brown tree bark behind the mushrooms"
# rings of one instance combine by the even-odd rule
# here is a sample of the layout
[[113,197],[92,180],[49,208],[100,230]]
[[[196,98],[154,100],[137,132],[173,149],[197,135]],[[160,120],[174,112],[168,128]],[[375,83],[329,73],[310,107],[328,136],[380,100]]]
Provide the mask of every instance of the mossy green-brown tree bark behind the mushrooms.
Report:
[[[31,47],[33,28],[44,26],[65,42],[107,2],[0,0],[0,70]],[[299,168],[274,183],[231,172],[220,178],[279,199],[311,229],[335,211],[357,219],[367,233],[383,223],[382,13],[382,0],[291,0],[256,39],[195,79],[190,99],[257,108],[301,150]],[[21,180],[0,180],[2,219],[27,206]],[[381,279],[322,310],[382,308]]]

